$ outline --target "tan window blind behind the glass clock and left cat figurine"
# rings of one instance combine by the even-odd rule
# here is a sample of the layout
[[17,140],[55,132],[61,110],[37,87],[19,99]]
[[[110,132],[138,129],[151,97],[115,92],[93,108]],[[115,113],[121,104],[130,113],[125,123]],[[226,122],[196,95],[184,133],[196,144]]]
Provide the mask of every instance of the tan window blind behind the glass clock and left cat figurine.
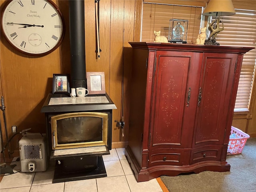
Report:
[[192,44],[200,31],[202,7],[153,4],[143,2],[142,42],[154,42],[154,30],[161,31],[161,36],[168,38],[169,20],[188,20],[187,42]]

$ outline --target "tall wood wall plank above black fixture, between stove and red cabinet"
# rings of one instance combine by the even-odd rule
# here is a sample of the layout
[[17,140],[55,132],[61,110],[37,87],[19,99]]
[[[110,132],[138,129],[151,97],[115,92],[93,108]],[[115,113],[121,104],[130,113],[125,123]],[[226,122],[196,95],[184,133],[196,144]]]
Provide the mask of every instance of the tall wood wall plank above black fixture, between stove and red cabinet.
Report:
[[119,142],[121,130],[116,127],[114,120],[120,121],[121,95],[122,95],[122,71],[124,49],[124,0],[111,1],[110,24],[110,98],[117,109],[112,114],[112,142]]

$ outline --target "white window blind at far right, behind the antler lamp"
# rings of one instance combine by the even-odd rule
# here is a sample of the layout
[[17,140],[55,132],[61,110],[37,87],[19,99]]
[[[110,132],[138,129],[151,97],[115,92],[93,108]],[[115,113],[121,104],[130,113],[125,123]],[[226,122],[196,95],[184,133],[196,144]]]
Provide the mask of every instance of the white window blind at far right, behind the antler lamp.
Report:
[[256,11],[236,10],[235,15],[221,20],[224,30],[216,37],[220,45],[255,47],[244,54],[235,105],[235,111],[248,111],[256,66]]

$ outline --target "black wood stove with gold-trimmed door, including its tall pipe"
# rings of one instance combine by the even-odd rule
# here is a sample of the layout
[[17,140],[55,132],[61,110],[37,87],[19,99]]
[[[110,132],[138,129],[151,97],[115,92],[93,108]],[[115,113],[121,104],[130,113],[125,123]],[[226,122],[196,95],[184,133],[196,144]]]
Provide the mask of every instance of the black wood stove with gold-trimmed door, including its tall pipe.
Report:
[[[86,88],[84,0],[69,1],[69,20],[71,87]],[[53,183],[107,176],[102,155],[111,150],[113,109],[107,94],[48,95],[41,112],[48,160],[56,161]]]

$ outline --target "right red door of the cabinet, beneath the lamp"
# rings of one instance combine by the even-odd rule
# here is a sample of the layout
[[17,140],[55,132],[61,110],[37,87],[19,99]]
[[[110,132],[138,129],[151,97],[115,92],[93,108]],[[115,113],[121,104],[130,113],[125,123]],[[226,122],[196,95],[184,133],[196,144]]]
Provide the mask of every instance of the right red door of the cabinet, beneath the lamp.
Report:
[[236,58],[236,54],[204,54],[194,146],[223,144]]

